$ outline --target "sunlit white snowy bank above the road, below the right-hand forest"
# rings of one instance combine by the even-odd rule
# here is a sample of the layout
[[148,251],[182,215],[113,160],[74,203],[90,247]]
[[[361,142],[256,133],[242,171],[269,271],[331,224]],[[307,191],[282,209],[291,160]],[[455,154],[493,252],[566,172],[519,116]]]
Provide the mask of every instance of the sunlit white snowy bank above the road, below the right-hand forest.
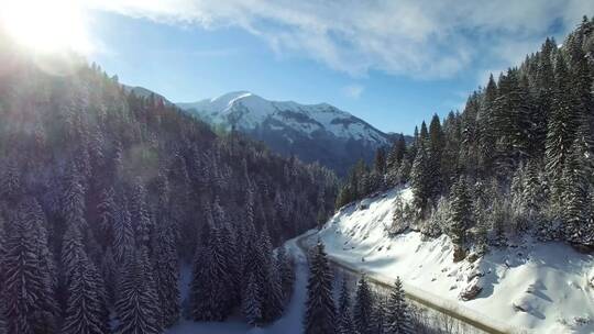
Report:
[[[594,333],[591,255],[526,240],[474,263],[454,264],[444,235],[426,241],[418,232],[386,233],[398,196],[413,197],[410,189],[394,189],[364,199],[343,208],[310,240],[320,237],[342,264],[388,282],[400,276],[408,292],[505,332]],[[470,285],[483,290],[474,300],[460,300]]]

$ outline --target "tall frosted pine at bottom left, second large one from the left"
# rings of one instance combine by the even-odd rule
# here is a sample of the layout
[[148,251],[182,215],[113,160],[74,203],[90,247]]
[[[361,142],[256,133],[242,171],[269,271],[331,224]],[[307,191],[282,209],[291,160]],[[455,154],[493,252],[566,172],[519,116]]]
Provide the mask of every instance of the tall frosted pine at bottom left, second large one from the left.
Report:
[[99,272],[85,253],[78,226],[68,226],[68,231],[64,235],[63,248],[63,272],[66,275],[67,301],[61,333],[108,333],[103,283],[98,281],[100,279]]

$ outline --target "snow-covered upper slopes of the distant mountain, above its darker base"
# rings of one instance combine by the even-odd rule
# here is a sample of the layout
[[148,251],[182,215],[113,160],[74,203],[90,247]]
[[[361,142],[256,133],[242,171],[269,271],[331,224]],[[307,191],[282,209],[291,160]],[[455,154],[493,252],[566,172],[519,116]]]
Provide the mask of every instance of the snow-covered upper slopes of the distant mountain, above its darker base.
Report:
[[268,101],[249,91],[237,91],[215,99],[176,104],[213,124],[229,127],[235,125],[238,129],[254,130],[266,121],[277,121],[307,135],[327,131],[340,138],[364,141],[375,146],[388,144],[388,137],[383,132],[327,103]]

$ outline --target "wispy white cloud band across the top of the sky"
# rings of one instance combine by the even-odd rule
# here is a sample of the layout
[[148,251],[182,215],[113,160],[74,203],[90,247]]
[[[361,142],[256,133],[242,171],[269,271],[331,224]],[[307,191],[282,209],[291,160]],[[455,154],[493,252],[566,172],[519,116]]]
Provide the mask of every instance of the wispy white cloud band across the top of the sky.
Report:
[[[85,0],[94,9],[206,29],[239,26],[277,53],[353,76],[370,70],[451,77],[475,62],[524,57],[551,25],[594,12],[592,0]],[[530,48],[529,51],[532,51]]]

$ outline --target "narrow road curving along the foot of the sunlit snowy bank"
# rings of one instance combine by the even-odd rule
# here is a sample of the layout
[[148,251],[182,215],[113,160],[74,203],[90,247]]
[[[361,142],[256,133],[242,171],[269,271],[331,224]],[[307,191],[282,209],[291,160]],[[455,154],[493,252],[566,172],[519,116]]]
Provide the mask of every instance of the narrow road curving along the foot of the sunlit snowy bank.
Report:
[[[296,244],[297,246],[301,249],[301,252],[304,252],[304,254],[307,255],[308,253],[308,247],[305,245],[305,241],[310,237],[311,235],[314,235],[312,233],[306,233],[304,234],[302,236],[299,236],[297,240],[296,240]],[[356,276],[360,276],[362,275],[362,272],[356,269],[354,266],[352,265],[349,265],[349,264],[345,264],[345,263],[342,263],[342,261],[338,261],[336,259],[332,259],[332,258],[329,258],[328,259],[332,265],[334,265],[336,267],[339,267],[345,271],[349,271],[351,274],[354,274]],[[386,282],[384,281],[381,281],[372,276],[367,276],[367,279],[369,281],[373,282],[374,285],[376,286],[380,286],[382,288],[386,288],[386,289],[389,289],[392,288],[391,285],[387,285]],[[457,313],[448,308],[443,308],[439,304],[436,304],[433,303],[432,301],[424,298],[424,297],[420,297],[420,296],[416,296],[416,294],[413,294],[413,293],[409,293],[409,292],[406,292],[406,297],[428,309],[431,309],[431,310],[435,310],[435,311],[438,311],[440,313],[443,313],[443,314],[447,314],[453,319],[457,319],[459,320],[460,322],[463,322],[474,329],[477,329],[477,330],[481,330],[485,333],[492,333],[492,334],[510,334],[510,332],[503,332],[501,329],[495,329],[488,324],[485,324],[485,323],[482,323],[482,322],[479,322],[476,321],[475,319],[472,319],[472,318],[469,318],[464,314],[460,314],[460,313]]]

